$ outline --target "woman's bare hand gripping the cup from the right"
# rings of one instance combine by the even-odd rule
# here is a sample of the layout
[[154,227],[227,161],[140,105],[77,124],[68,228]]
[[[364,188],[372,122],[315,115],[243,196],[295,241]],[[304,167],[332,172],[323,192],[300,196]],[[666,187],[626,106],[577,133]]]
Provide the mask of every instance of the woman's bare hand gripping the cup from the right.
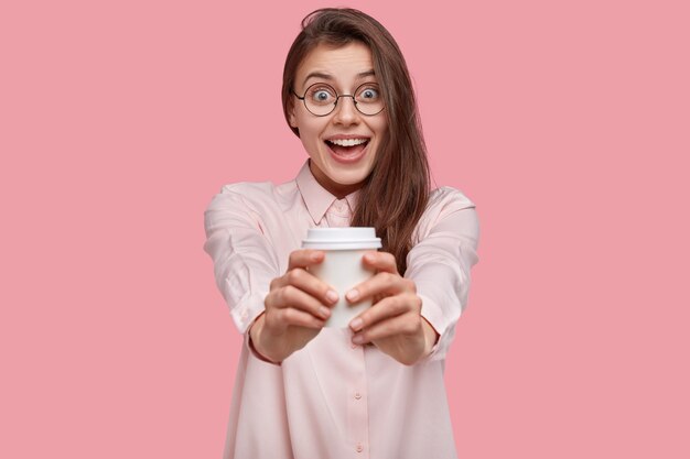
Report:
[[422,300],[414,282],[398,273],[396,259],[386,252],[367,252],[365,265],[377,274],[349,291],[349,303],[373,299],[373,306],[349,324],[353,342],[373,342],[400,363],[411,365],[431,352],[439,335],[422,318]]

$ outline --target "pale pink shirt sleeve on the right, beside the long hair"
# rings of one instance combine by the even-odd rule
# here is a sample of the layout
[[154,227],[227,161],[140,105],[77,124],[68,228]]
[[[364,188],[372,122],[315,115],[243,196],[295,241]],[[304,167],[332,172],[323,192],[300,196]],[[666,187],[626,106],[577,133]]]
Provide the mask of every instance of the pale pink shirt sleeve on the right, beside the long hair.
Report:
[[456,189],[439,189],[420,220],[418,243],[408,254],[406,272],[422,299],[422,317],[439,334],[429,360],[445,358],[453,341],[467,305],[470,270],[478,261],[478,237],[474,204]]

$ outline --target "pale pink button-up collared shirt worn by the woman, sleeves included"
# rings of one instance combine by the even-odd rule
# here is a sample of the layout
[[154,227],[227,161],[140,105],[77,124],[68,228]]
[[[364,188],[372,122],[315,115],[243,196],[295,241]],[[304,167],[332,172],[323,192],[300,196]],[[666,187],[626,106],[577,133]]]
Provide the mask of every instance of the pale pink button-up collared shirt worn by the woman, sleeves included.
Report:
[[249,347],[270,282],[285,273],[306,230],[349,226],[357,193],[336,199],[309,162],[282,185],[226,185],[205,212],[206,252],[241,334],[224,458],[419,459],[456,457],[443,363],[477,262],[474,204],[435,189],[417,225],[405,276],[440,338],[430,356],[403,365],[349,329],[323,328],[281,364]]

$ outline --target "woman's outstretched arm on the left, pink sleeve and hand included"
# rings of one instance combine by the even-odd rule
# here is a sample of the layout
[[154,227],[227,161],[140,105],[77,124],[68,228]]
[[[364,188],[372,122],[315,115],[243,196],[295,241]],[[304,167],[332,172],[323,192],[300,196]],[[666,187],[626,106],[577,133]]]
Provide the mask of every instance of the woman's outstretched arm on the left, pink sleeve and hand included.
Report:
[[303,348],[324,326],[337,294],[308,272],[324,253],[297,250],[288,271],[279,274],[278,259],[261,231],[260,216],[238,193],[224,188],[205,215],[207,241],[216,282],[250,349],[278,363]]

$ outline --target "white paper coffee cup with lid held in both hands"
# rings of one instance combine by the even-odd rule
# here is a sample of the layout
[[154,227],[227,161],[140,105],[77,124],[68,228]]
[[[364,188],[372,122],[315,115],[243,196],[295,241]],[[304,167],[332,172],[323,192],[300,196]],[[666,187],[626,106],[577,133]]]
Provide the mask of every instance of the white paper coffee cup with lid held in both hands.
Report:
[[351,305],[345,294],[374,275],[373,270],[364,266],[362,256],[380,249],[381,240],[376,237],[374,228],[312,228],[302,241],[302,248],[326,252],[323,262],[310,266],[309,271],[338,294],[326,327],[346,328],[352,319],[371,306],[370,299]]

